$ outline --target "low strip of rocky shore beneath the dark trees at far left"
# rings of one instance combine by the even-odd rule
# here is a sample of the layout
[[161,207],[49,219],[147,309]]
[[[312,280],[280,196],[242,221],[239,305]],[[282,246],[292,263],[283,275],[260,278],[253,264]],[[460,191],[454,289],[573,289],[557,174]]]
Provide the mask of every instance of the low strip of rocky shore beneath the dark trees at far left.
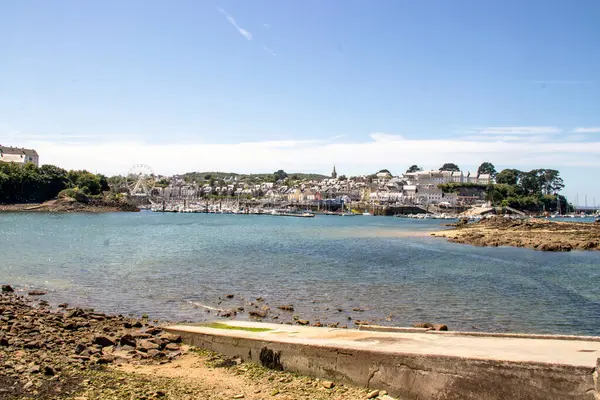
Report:
[[139,208],[133,204],[106,199],[89,199],[81,202],[71,198],[62,198],[41,204],[0,204],[0,212],[104,213],[137,211]]

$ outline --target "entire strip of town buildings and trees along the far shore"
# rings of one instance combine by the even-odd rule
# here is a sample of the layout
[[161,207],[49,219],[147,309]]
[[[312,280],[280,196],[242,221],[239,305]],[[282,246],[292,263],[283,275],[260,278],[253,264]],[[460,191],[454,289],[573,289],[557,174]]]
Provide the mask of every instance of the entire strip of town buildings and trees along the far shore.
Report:
[[445,163],[438,169],[424,170],[412,165],[398,174],[381,169],[350,177],[340,174],[335,166],[328,176],[288,174],[281,169],[263,174],[188,172],[162,176],[148,165],[137,164],[127,173],[107,177],[39,164],[40,156],[34,149],[0,146],[0,203],[104,194],[126,198],[140,207],[154,205],[162,211],[167,205],[173,210],[207,210],[208,203],[215,201],[219,209],[226,202],[235,203],[228,205],[232,210],[241,210],[243,203],[246,210],[251,206],[342,212],[346,209],[386,215],[429,212],[432,207],[437,208],[434,212],[452,208],[457,213],[478,206],[559,215],[595,211],[595,202],[589,209],[573,207],[560,194],[565,185],[558,170],[508,168],[497,172],[487,161],[475,171],[463,171],[454,163]]

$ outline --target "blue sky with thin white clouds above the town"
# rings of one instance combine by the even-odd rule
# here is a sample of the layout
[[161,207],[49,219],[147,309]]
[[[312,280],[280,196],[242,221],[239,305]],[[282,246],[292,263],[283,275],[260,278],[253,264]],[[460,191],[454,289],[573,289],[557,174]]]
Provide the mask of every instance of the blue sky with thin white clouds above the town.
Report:
[[597,0],[0,0],[0,144],[126,174],[553,168],[600,204]]

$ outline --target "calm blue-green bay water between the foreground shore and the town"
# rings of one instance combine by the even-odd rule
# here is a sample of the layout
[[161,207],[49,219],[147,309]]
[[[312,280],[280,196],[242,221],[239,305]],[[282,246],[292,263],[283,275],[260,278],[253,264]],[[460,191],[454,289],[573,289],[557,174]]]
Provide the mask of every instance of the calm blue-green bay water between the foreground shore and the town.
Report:
[[[293,304],[311,322],[351,324],[350,316],[398,326],[431,321],[453,330],[600,335],[600,252],[476,248],[426,234],[442,224],[0,214],[0,281],[49,290],[51,301],[168,320],[212,319],[198,304],[229,308],[264,297],[272,307]],[[235,298],[219,304],[226,293]]]

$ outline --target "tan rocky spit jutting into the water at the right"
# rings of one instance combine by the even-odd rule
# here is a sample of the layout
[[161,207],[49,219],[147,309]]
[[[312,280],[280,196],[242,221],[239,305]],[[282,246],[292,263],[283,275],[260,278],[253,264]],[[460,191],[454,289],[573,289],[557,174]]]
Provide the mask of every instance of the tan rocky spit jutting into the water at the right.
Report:
[[484,218],[432,233],[474,246],[527,247],[541,251],[600,250],[600,224],[543,219]]

